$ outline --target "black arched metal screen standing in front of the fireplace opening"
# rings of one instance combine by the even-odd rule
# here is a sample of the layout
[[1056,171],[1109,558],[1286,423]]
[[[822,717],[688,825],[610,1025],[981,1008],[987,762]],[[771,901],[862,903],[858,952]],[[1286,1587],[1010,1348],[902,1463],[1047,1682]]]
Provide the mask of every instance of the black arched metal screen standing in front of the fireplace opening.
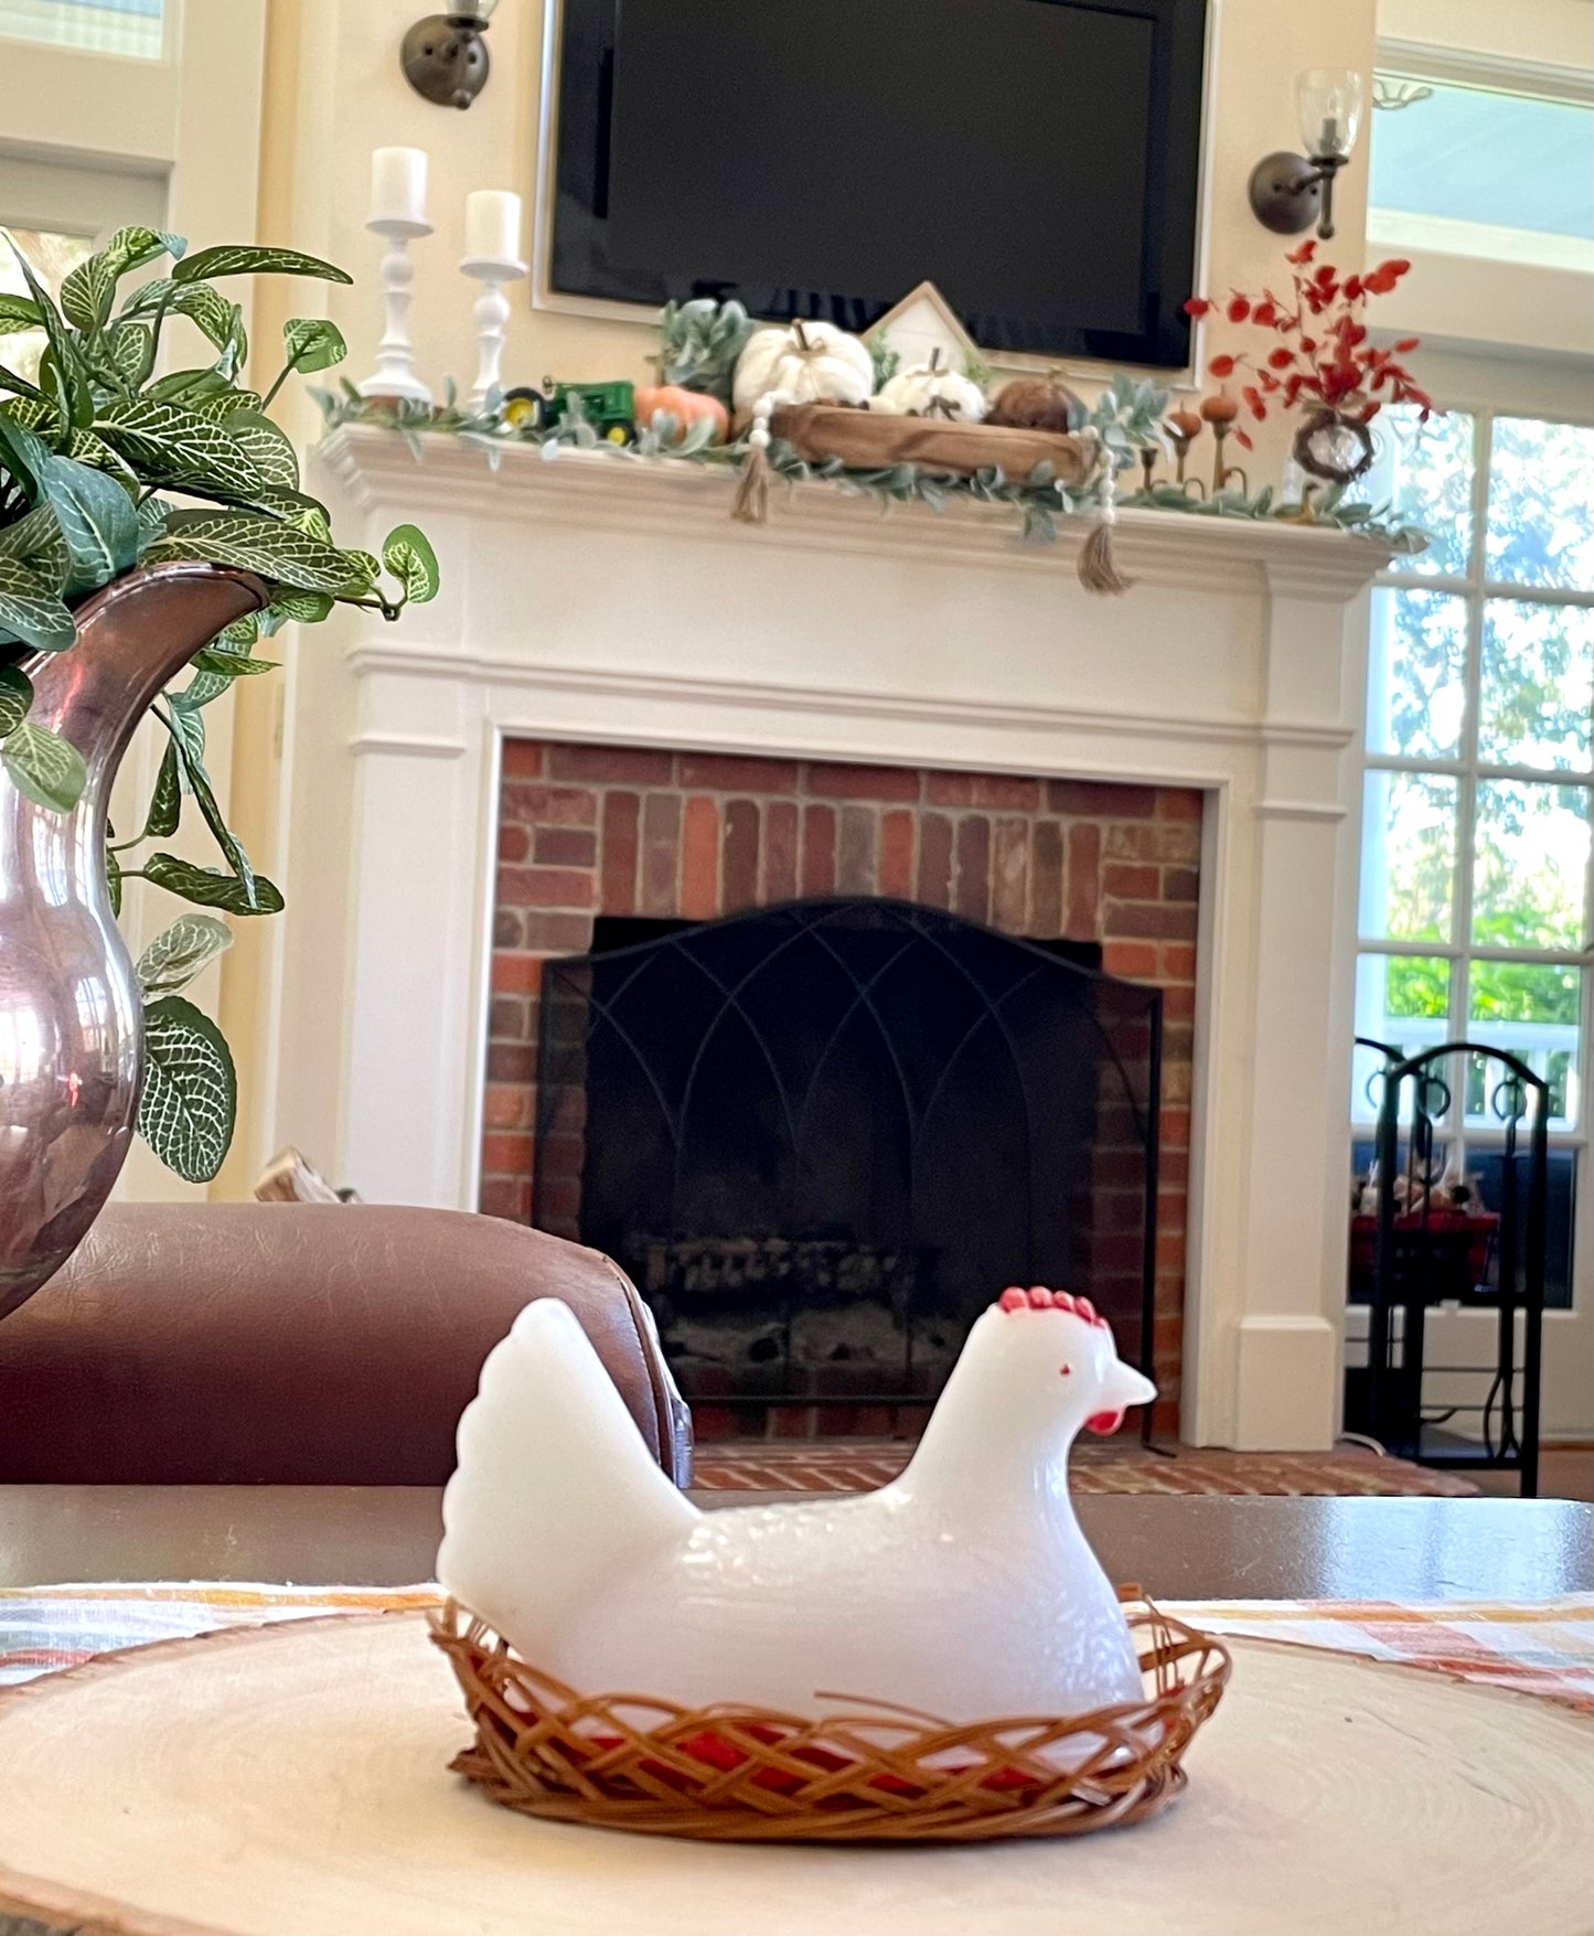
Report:
[[1150,1365],[1162,997],[901,900],[550,962],[533,1222],[614,1256],[688,1398],[934,1396],[1007,1284]]

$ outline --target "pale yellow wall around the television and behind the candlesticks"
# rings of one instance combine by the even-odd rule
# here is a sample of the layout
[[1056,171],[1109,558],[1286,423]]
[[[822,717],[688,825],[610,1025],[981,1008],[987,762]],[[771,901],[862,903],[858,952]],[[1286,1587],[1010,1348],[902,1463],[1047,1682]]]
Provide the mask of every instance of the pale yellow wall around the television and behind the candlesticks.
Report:
[[[430,155],[430,215],[436,234],[414,248],[411,310],[418,370],[434,387],[453,374],[469,383],[475,366],[471,306],[475,285],[457,273],[463,252],[465,196],[473,188],[515,188],[531,215],[538,103],[542,91],[542,4],[506,0],[488,45],[492,77],[469,112],[438,108],[414,95],[399,74],[399,41],[422,12],[422,0],[269,0],[265,112],[261,136],[261,240],[292,242],[343,263],[358,277],[353,290],[322,285],[263,283],[256,300],[256,341],[267,343],[283,316],[325,304],[351,343],[349,374],[370,372],[380,335],[376,290],[378,242],[364,230],[370,151],[378,145],[424,147]],[[1216,62],[1211,87],[1207,288],[1257,287],[1282,275],[1284,244],[1251,217],[1245,180],[1274,147],[1296,147],[1294,77],[1302,68],[1371,70],[1375,0],[1214,0]],[[713,103],[701,110],[711,114]],[[1364,151],[1365,153],[1365,151]],[[1065,194],[1067,186],[1058,184]],[[1365,213],[1364,155],[1344,172],[1336,196],[1334,259],[1360,263]],[[527,236],[527,244],[529,244]],[[513,290],[506,379],[536,383],[560,378],[641,376],[653,348],[645,323],[598,321],[536,312],[525,287]],[[1207,352],[1220,345],[1220,333]],[[292,428],[314,436],[304,408]],[[1278,426],[1259,438],[1251,463],[1276,474]],[[287,650],[316,650],[308,633]],[[265,689],[261,689],[265,687]],[[275,709],[279,681],[244,681],[238,689],[238,751],[232,811],[240,832],[269,871],[285,803],[277,798]],[[291,687],[289,687],[291,689]],[[314,817],[314,802],[294,802],[294,815]],[[327,829],[339,838],[339,829]],[[285,922],[292,922],[292,910]],[[242,923],[240,923],[242,925]],[[271,983],[281,923],[250,923],[227,962],[223,1022],[240,1063],[244,1113],[232,1162],[219,1195],[238,1195],[269,1156]],[[339,1001],[327,989],[327,1001]],[[312,1156],[316,1152],[306,1152]]]

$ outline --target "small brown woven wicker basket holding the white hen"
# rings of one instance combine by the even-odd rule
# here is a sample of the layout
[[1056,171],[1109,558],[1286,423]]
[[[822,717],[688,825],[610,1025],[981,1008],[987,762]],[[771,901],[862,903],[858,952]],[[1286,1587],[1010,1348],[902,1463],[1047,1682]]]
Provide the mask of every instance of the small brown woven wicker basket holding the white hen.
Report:
[[581,1696],[449,1603],[432,1640],[476,1729],[451,1766],[523,1814],[703,1841],[990,1841],[1141,1822],[1183,1789],[1183,1752],[1230,1657],[1139,1588],[1121,1597],[1145,1702],[966,1725]]

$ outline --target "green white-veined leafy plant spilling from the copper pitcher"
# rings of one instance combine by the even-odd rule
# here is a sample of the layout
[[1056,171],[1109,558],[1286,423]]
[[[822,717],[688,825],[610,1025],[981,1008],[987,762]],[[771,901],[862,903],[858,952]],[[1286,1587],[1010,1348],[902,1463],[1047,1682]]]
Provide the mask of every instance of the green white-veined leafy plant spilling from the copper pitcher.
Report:
[[[221,246],[190,256],[180,236],[122,228],[64,279],[56,300],[15,254],[27,294],[0,294],[6,782],[46,813],[70,815],[83,798],[85,749],[70,732],[29,716],[41,666],[52,664],[45,654],[93,649],[77,639],[83,600],[143,567],[182,561],[248,573],[263,596],[188,660],[186,683],[153,701],[167,747],[147,811],[122,838],[105,829],[118,912],[128,879],[215,910],[184,914],[138,962],[145,999],[138,1127],[170,1167],[205,1181],[232,1136],[236,1086],[221,1032],[180,989],[230,939],[217,914],[260,916],[283,906],[215,798],[205,712],[236,680],[271,670],[256,647],[281,625],[314,623],[335,604],[397,618],[405,604],[434,596],[438,565],[413,525],[389,534],[380,560],[341,548],[325,507],[300,488],[294,445],[267,414],[291,376],[327,370],[345,356],[333,323],[289,321],[283,368],[269,389],[242,379],[244,316],[219,285],[265,273],[347,283],[341,269],[283,248]],[[165,275],[149,273],[157,263]],[[145,275],[128,285],[139,271]],[[157,374],[178,319],[198,331],[201,358]],[[37,376],[8,366],[6,339],[17,331],[43,331]],[[209,831],[219,865],[196,865],[165,848],[190,809]]]

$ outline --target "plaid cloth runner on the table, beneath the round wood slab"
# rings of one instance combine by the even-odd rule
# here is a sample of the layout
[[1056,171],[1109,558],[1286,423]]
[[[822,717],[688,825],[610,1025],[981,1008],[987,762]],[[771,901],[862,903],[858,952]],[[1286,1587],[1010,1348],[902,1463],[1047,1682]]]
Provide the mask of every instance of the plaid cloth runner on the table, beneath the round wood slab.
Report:
[[[440,1605],[434,1586],[46,1586],[0,1597],[0,1686],[221,1626]],[[1546,1601],[1164,1601],[1191,1626],[1404,1661],[1594,1711],[1594,1593]]]

